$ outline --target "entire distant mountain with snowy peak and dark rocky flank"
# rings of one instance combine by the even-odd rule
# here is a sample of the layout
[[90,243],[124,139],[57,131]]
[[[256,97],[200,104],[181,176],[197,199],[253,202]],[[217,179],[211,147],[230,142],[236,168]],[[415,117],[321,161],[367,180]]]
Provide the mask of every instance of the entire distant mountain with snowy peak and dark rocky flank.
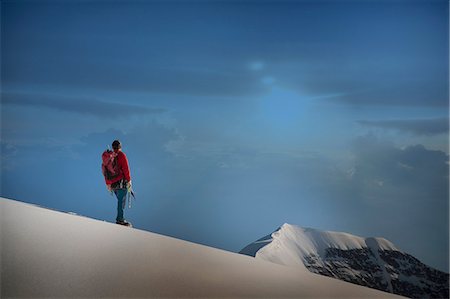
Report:
[[448,298],[449,274],[383,238],[284,224],[240,253],[411,298]]

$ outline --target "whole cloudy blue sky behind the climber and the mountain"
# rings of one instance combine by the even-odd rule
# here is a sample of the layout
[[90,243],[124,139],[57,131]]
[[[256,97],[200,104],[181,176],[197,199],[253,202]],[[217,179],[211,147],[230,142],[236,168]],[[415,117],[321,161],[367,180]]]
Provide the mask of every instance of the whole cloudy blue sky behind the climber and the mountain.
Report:
[[1,195],[239,251],[285,222],[448,271],[447,1],[2,1]]

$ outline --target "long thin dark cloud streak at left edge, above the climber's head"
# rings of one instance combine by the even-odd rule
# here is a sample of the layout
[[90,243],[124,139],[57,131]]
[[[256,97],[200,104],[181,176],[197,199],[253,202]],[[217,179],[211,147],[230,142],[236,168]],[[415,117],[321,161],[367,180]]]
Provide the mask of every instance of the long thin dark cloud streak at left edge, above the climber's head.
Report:
[[162,108],[108,102],[98,99],[75,98],[48,94],[2,93],[2,104],[28,107],[45,107],[99,118],[128,117],[132,115],[160,114]]

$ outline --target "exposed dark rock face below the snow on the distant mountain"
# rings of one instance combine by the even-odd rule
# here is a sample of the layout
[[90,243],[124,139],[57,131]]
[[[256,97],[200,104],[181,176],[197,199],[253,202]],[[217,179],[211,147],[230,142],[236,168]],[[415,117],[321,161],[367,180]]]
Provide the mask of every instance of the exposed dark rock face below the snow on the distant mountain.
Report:
[[410,298],[449,297],[447,273],[400,251],[327,248],[325,258],[307,256],[304,264],[313,273]]

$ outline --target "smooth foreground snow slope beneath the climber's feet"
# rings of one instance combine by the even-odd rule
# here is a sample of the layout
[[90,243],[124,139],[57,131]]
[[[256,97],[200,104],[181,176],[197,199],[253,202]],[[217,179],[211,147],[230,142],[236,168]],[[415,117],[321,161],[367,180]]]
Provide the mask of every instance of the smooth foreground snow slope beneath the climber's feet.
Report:
[[1,298],[388,298],[150,232],[0,199]]

